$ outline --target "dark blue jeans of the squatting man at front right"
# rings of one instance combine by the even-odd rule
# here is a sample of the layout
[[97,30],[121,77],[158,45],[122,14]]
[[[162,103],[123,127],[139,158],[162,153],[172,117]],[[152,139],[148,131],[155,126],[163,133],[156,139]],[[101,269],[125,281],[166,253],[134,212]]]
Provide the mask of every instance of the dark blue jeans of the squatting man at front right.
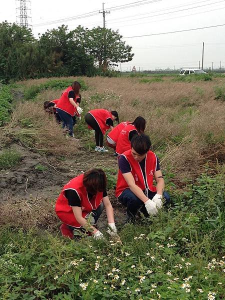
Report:
[[[155,194],[156,191],[151,191],[148,189],[149,199],[152,199]],[[164,191],[163,196],[165,197],[166,204],[168,204],[170,202],[169,194]],[[144,214],[144,216],[148,216],[143,201],[137,198],[137,196],[129,188],[124,189],[118,199],[122,205],[126,206],[127,218],[134,219],[139,209],[141,209],[141,212]]]

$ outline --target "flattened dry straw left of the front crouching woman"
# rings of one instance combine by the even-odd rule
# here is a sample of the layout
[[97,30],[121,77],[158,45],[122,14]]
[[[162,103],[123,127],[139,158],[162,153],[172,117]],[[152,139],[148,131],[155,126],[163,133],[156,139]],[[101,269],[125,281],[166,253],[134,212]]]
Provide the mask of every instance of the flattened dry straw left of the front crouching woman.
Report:
[[43,226],[49,229],[55,227],[57,222],[54,201],[8,196],[5,201],[0,202],[0,226],[7,225],[23,229]]

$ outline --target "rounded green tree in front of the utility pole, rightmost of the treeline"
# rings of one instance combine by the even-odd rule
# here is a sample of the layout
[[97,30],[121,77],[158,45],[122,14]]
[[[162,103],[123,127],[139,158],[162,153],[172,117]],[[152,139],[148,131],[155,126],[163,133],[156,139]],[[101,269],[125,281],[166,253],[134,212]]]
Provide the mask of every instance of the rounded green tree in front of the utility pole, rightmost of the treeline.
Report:
[[78,28],[85,40],[85,48],[91,54],[98,66],[106,70],[109,65],[117,65],[118,62],[127,62],[132,60],[132,47],[125,45],[121,40],[122,35],[118,30],[97,27],[93,29]]

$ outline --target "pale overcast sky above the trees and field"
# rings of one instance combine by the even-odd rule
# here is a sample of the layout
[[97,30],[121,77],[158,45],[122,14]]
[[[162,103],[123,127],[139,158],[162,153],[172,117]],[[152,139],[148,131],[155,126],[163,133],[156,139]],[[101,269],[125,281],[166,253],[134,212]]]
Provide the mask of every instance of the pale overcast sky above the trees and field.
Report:
[[[119,6],[134,2],[133,7]],[[1,0],[1,3],[4,4],[0,21],[15,22],[19,1]],[[28,21],[35,37],[62,23],[69,29],[78,25],[88,28],[103,25],[102,14],[98,12],[102,9],[102,0],[31,0],[27,6],[31,8],[27,14],[31,16]],[[225,24],[225,0],[109,0],[104,2],[104,8],[110,10],[105,16],[106,27],[118,29],[123,37]],[[89,12],[93,15],[50,23]],[[44,22],[48,23],[41,24]],[[211,66],[212,61],[218,67],[220,60],[225,67],[225,26],[125,38],[125,41],[133,47],[135,55],[132,61],[122,63],[122,70],[129,70],[133,65],[140,70],[197,67],[203,41],[204,67]]]

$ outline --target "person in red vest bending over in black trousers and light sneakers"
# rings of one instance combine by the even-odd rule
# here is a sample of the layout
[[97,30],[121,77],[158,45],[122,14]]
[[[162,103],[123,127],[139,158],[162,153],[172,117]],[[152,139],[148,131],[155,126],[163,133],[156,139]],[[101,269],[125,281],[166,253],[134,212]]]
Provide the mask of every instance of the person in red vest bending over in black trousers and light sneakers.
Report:
[[113,121],[119,122],[117,111],[108,111],[106,109],[92,109],[89,110],[84,116],[85,122],[88,124],[88,128],[94,130],[95,134],[95,151],[107,152],[103,147],[103,137],[105,131],[109,128],[113,128]]

